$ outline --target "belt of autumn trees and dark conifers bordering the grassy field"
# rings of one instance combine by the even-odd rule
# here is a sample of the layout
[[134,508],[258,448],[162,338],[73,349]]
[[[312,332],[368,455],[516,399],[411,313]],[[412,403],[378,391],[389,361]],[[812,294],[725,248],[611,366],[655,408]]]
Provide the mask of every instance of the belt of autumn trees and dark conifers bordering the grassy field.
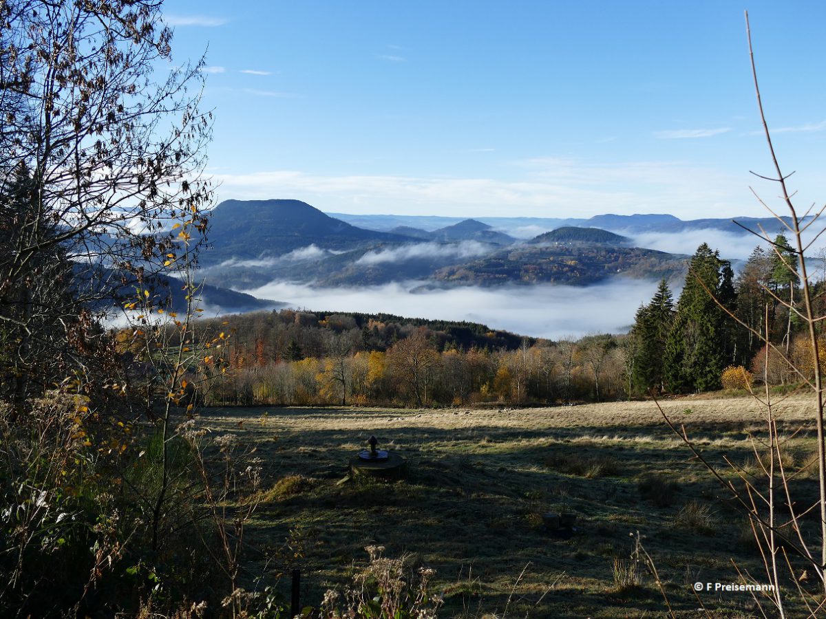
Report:
[[[795,300],[783,262],[795,254],[782,235],[775,243],[783,258],[755,248],[736,277],[704,243],[679,299],[662,280],[625,335],[552,342],[482,324],[294,309],[207,320],[204,337],[225,337],[225,362],[202,397],[220,405],[525,405],[745,387],[766,373],[766,348],[749,328],[763,333],[768,324],[781,352],[811,366],[795,315],[778,302]],[[779,354],[769,361],[770,383],[795,380]]]

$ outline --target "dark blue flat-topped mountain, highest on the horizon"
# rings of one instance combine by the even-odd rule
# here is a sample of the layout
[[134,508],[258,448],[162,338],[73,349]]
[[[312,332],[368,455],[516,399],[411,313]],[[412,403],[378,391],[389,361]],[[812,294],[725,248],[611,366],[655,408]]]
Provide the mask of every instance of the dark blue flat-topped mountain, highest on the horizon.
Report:
[[202,262],[281,256],[310,245],[347,251],[368,243],[411,240],[416,239],[357,228],[300,200],[225,200],[212,210],[211,248],[202,253]]

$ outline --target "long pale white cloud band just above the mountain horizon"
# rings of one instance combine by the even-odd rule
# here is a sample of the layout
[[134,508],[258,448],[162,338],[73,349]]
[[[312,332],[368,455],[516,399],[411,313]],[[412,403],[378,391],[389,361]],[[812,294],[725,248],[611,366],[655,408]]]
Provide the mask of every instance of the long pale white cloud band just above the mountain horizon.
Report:
[[[748,173],[733,177],[689,163],[587,163],[534,158],[515,162],[515,179],[326,176],[276,170],[219,174],[221,198],[294,197],[324,211],[354,214],[589,217],[662,213],[719,217],[753,212]],[[697,179],[703,182],[697,182]]]

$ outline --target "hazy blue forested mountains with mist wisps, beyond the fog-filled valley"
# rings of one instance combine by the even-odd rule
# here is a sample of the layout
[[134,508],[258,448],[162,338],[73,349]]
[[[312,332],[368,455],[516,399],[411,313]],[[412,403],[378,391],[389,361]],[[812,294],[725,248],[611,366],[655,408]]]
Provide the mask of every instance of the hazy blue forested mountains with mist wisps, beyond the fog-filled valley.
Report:
[[[649,279],[685,272],[686,256],[634,247],[632,239],[607,229],[686,224],[673,215],[501,219],[532,222],[526,230],[539,227],[537,222],[563,225],[520,241],[488,223],[495,218],[354,216],[359,223],[395,224],[376,230],[335,219],[302,201],[228,200],[213,211],[211,247],[201,262],[209,281],[235,290],[254,290],[270,281],[333,287],[402,281],[423,286],[587,286],[618,275]],[[698,221],[709,226],[707,220]]]

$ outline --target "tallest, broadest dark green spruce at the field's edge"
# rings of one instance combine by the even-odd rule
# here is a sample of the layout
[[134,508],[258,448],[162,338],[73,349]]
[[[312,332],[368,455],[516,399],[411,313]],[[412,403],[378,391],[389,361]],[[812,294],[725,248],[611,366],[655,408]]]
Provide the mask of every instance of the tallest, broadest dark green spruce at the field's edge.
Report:
[[662,358],[668,390],[688,393],[719,389],[720,373],[733,358],[734,332],[718,301],[733,309],[735,300],[729,262],[703,243],[691,257]]

